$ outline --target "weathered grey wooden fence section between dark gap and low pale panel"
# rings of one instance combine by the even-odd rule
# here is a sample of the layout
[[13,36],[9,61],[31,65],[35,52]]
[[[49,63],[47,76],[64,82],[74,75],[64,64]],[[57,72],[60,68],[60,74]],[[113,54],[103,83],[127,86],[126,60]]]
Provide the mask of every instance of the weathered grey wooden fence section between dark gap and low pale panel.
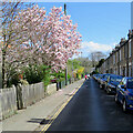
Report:
[[18,109],[27,108],[44,98],[43,82],[17,86]]

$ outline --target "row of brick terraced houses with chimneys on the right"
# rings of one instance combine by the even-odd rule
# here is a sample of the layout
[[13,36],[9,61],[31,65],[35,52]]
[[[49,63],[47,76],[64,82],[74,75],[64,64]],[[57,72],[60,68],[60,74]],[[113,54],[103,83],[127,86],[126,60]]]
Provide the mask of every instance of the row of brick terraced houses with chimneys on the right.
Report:
[[129,31],[127,40],[121,39],[120,43],[105,59],[99,72],[133,76],[133,30]]

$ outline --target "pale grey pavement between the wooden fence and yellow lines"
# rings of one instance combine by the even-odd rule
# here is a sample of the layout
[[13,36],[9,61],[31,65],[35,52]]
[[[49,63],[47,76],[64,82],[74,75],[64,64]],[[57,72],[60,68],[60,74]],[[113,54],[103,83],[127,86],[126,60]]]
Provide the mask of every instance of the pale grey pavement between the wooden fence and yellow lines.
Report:
[[53,115],[83,82],[84,79],[79,80],[40,102],[24,110],[19,110],[17,114],[2,121],[2,131],[35,131],[40,123]]

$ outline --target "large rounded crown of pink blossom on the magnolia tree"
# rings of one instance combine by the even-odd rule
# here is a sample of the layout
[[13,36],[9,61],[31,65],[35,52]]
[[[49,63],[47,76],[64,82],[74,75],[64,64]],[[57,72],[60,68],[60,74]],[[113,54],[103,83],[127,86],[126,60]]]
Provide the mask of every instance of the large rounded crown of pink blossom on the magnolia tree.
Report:
[[[64,69],[68,59],[78,53],[81,34],[62,8],[53,7],[47,16],[44,9],[34,6],[22,10],[14,23],[19,35],[28,39],[21,47],[28,52],[24,58],[30,62],[44,63],[58,71]],[[20,42],[16,43],[20,47]]]

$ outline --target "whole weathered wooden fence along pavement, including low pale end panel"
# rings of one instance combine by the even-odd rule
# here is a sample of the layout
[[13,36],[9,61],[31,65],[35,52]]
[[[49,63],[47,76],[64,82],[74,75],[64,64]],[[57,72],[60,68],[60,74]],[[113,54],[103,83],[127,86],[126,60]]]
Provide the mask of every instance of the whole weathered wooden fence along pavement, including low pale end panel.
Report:
[[50,84],[44,92],[43,82],[21,85],[17,88],[0,89],[0,120],[14,114],[17,110],[27,108],[41,99],[44,95],[50,95],[57,91],[57,83]]

